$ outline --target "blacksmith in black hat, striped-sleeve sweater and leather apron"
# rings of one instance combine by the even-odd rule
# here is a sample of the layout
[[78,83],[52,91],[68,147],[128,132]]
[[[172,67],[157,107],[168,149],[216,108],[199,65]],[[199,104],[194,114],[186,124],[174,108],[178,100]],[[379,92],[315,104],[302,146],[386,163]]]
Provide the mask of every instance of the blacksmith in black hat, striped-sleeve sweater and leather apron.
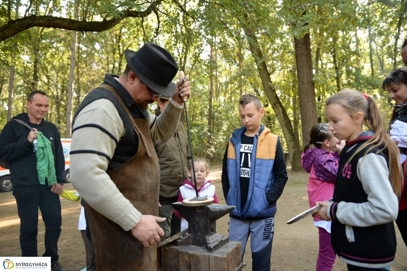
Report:
[[[73,122],[71,181],[85,201],[96,269],[153,270],[158,223],[160,167],[154,144],[175,133],[190,96],[188,78],[173,56],[153,43],[126,50],[119,77],[106,74],[78,107]],[[170,96],[159,116],[147,111],[159,95]]]

